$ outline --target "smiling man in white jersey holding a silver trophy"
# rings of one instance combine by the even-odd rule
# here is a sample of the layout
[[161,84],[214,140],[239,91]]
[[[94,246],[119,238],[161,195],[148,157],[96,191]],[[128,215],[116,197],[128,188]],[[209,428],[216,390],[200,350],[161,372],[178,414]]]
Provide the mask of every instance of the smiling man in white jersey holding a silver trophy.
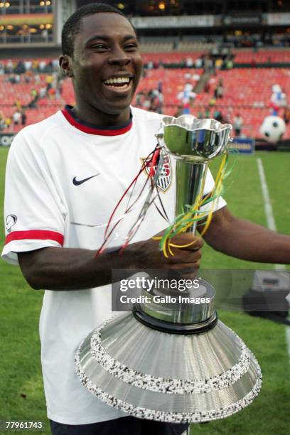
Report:
[[[20,264],[34,289],[48,289],[41,312],[41,360],[53,434],[181,434],[186,425],[127,417],[80,385],[73,359],[80,340],[111,316],[114,268],[198,268],[202,240],[166,259],[152,236],[166,227],[151,208],[132,243],[122,244],[138,216],[133,209],[110,247],[95,257],[109,216],[156,146],[161,115],[130,107],[141,75],[131,23],[117,9],[92,4],[63,28],[60,67],[73,81],[75,107],[26,127],[11,146],[6,176],[4,258]],[[169,166],[170,167],[170,164]],[[168,169],[168,168],[167,168]],[[17,176],[16,176],[17,174]],[[171,171],[163,203],[173,215]],[[146,181],[141,173],[136,190]],[[213,188],[209,175],[205,193]],[[162,193],[161,193],[162,195]],[[126,201],[125,201],[126,202]],[[205,240],[236,257],[290,261],[290,237],[233,218],[220,201]],[[122,216],[122,210],[119,216]],[[187,245],[192,235],[174,240]]]

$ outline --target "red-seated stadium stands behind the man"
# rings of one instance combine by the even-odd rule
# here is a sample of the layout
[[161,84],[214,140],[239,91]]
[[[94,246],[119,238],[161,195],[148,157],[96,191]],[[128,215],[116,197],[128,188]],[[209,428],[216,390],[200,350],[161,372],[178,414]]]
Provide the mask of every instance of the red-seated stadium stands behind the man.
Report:
[[[256,66],[259,66],[259,63],[267,62],[269,56],[273,62],[286,63],[289,60],[289,53],[289,50],[259,50],[258,53],[253,53],[252,50],[235,50],[234,55],[236,63],[245,64],[250,63],[254,55]],[[137,93],[146,94],[161,87],[161,111],[176,115],[182,113],[178,112],[182,105],[177,98],[178,93],[183,91],[188,82],[195,92],[200,83],[201,89],[196,92],[194,99],[190,99],[190,113],[195,116],[205,116],[207,109],[207,116],[215,117],[219,111],[222,119],[227,122],[232,122],[235,114],[240,113],[244,122],[243,133],[258,138],[260,136],[259,127],[264,117],[272,112],[270,105],[272,85],[279,84],[282,90],[287,92],[290,88],[289,70],[287,68],[215,69],[205,76],[203,68],[193,68],[195,61],[203,58],[203,55],[203,51],[143,53],[144,65],[147,68],[144,70],[144,77]],[[192,68],[184,68],[188,58],[193,63]],[[26,73],[22,71],[21,74],[17,74],[15,71],[22,64],[21,60],[1,60],[0,117],[4,119],[4,122],[10,119],[6,127],[4,122],[2,123],[1,131],[4,133],[17,132],[23,127],[21,122],[15,124],[13,120],[17,104],[18,108],[21,107],[26,114],[26,124],[32,124],[53,114],[65,103],[74,103],[73,87],[70,80],[63,80],[63,77],[59,75],[56,59],[26,59],[26,62],[28,65],[31,63],[29,70]],[[168,68],[172,66],[174,68]],[[50,86],[48,86],[49,77]],[[215,99],[215,87],[220,81],[223,94],[222,97]],[[208,82],[207,92],[204,89],[206,82]],[[59,83],[60,86],[58,86]],[[37,93],[35,104],[33,104],[33,92]],[[136,97],[134,104],[152,109],[150,105],[146,107],[140,104]],[[284,108],[279,109],[281,117],[283,113]],[[290,137],[289,124],[284,137],[286,139]]]

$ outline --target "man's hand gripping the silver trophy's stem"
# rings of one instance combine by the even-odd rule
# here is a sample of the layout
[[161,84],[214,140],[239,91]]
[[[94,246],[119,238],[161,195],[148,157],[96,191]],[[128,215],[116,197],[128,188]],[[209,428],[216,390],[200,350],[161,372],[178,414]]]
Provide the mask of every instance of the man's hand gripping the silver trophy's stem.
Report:
[[168,254],[168,258],[159,249],[159,240],[154,239],[133,243],[127,246],[124,254],[131,254],[135,269],[198,269],[200,267],[203,239],[188,232],[176,235],[170,243],[173,255]]

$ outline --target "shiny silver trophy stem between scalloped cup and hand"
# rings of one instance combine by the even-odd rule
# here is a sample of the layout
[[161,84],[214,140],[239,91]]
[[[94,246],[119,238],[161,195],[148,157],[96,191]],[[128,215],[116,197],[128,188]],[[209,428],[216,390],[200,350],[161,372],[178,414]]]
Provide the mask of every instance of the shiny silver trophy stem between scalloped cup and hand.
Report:
[[[203,195],[208,162],[193,162],[176,159],[176,218],[188,210]],[[195,233],[196,222],[186,232]]]

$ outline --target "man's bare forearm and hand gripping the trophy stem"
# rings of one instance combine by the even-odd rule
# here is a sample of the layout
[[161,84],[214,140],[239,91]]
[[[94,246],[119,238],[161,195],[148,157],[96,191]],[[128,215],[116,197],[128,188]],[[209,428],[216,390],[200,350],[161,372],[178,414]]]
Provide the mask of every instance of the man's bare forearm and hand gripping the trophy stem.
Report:
[[[175,255],[166,259],[159,242],[150,239],[128,245],[122,254],[106,252],[96,257],[89,249],[46,247],[18,253],[21,271],[33,289],[90,289],[112,282],[112,269],[198,269],[203,240],[186,249],[173,249]],[[193,235],[173,237],[176,245],[188,245]]]

